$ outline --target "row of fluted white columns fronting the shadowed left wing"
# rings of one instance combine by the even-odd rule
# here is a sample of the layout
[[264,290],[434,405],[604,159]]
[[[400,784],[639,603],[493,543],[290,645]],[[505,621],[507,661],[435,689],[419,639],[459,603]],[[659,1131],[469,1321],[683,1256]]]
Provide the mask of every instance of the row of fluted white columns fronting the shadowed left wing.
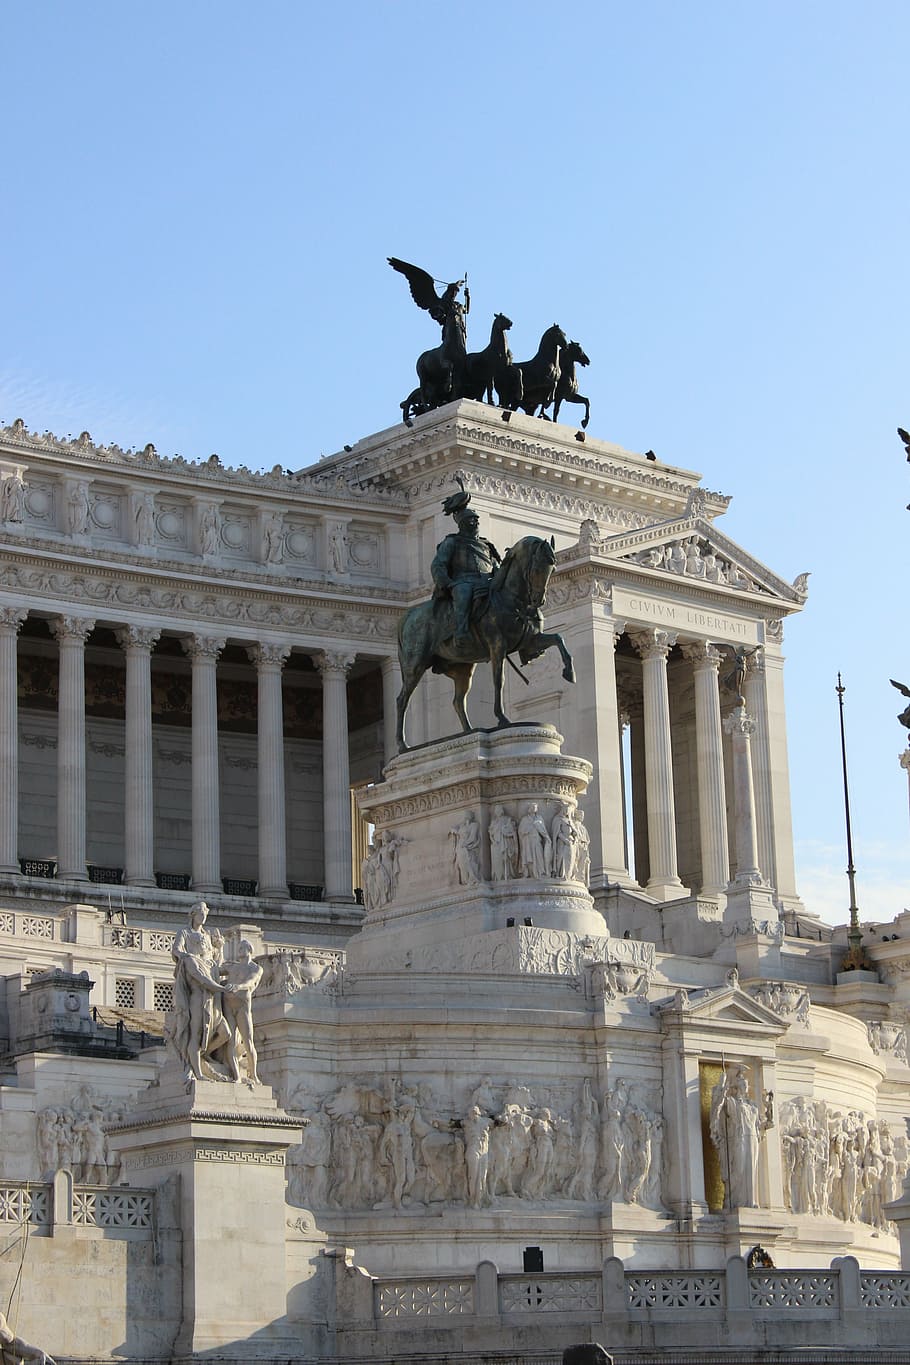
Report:
[[[0,607],[0,872],[18,872],[18,633],[26,609]],[[85,882],[86,867],[86,713],[85,647],[96,621],[59,616],[49,620],[59,644],[57,692],[57,878]],[[151,732],[151,652],[161,629],[123,625],[116,639],[126,657],[124,733],[124,882],[154,886],[154,785]],[[221,819],[218,774],[217,665],[225,637],[181,637],[191,663],[192,715],[192,889],[220,893]],[[247,642],[256,669],[258,710],[258,883],[261,897],[287,898],[285,767],[282,669],[291,646]],[[314,651],[323,700],[323,850],[326,900],[352,901],[351,773],[348,760],[347,680],[356,659],[349,648]],[[394,752],[397,661],[382,662],[385,755]]]

